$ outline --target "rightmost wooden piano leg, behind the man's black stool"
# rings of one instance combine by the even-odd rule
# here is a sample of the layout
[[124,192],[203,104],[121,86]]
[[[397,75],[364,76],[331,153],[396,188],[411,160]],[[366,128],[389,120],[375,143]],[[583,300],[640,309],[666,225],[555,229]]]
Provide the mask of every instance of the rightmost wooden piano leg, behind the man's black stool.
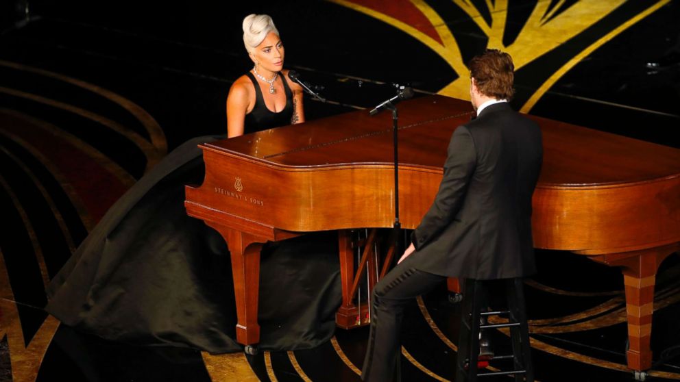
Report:
[[628,367],[632,370],[648,370],[652,366],[650,338],[656,273],[661,262],[678,249],[678,244],[672,244],[642,251],[590,257],[596,262],[622,268],[628,318],[629,348],[626,356]]

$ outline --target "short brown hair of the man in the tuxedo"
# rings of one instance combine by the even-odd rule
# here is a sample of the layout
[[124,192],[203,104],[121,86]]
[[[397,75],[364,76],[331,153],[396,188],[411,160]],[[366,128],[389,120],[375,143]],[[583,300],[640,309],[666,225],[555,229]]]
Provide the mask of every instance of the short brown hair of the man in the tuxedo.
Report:
[[515,94],[515,65],[508,53],[487,49],[474,56],[467,67],[479,92],[495,99],[512,99]]

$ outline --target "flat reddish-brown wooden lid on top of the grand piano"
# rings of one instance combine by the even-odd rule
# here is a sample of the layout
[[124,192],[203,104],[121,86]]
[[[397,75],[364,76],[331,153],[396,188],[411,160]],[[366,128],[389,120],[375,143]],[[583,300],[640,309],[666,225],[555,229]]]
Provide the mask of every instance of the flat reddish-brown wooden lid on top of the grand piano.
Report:
[[[469,102],[439,95],[404,101],[399,110],[400,166],[441,171],[454,129],[470,120]],[[539,188],[593,188],[680,177],[680,150],[529,116],[544,137]],[[367,110],[279,127],[202,145],[268,166],[389,166],[392,118]]]

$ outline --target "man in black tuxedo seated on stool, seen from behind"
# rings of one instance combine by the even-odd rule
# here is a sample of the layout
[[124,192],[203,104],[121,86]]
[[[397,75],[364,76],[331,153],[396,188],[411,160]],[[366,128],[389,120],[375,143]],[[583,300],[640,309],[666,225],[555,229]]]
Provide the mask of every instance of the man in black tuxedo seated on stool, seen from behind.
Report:
[[374,288],[364,381],[391,381],[404,307],[446,277],[505,279],[536,271],[531,195],[542,164],[541,131],[514,112],[514,66],[487,49],[470,68],[477,117],[457,127],[435,201],[411,245]]

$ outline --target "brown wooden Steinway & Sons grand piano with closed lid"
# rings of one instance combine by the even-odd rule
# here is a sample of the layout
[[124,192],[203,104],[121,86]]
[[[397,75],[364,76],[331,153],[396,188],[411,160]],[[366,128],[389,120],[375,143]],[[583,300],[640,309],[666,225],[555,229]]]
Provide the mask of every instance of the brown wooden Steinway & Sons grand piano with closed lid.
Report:
[[[415,229],[434,200],[450,136],[473,111],[469,102],[435,95],[400,103],[399,112],[400,222]],[[647,370],[655,275],[680,249],[680,150],[529,118],[544,136],[544,164],[533,196],[534,246],[620,267],[628,366]],[[200,146],[206,177],[202,186],[186,187],[185,206],[228,243],[238,342],[259,342],[263,243],[305,232],[339,230],[338,322],[348,312],[363,314],[351,301],[356,280],[348,276],[353,265],[344,232],[393,226],[391,126],[389,113],[357,111]]]

